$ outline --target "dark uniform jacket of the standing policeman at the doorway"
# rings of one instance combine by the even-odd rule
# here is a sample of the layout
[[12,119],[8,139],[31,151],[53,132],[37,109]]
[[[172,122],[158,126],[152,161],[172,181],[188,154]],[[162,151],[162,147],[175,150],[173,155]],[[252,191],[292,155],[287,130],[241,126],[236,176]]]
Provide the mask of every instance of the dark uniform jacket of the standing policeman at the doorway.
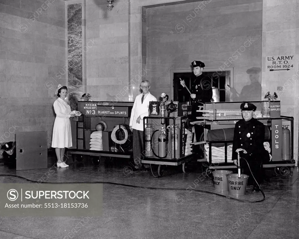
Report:
[[[213,92],[212,92],[212,86],[211,86],[211,80],[209,77],[204,75],[199,75],[196,77],[195,80],[191,80],[191,93],[196,94],[196,98],[191,98],[191,105],[192,105],[192,116],[194,120],[196,120],[196,116],[199,117],[198,112],[196,110],[199,110],[198,106],[203,106],[206,102],[211,102]],[[200,103],[203,104],[200,104]]]

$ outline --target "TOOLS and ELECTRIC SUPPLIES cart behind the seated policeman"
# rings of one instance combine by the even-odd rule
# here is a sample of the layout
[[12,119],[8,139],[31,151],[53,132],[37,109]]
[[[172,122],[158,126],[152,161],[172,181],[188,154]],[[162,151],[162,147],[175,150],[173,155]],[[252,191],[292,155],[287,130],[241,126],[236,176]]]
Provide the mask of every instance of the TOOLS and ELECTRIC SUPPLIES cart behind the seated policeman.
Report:
[[[203,116],[197,124],[205,125],[202,147],[205,159],[199,161],[206,167],[207,175],[212,169],[236,168],[231,160],[234,127],[242,119],[240,104],[243,102],[206,103]],[[274,168],[277,175],[292,175],[295,167],[293,157],[294,118],[280,115],[280,101],[250,101],[257,107],[254,118],[265,125],[264,147],[271,160],[263,161],[263,168]]]

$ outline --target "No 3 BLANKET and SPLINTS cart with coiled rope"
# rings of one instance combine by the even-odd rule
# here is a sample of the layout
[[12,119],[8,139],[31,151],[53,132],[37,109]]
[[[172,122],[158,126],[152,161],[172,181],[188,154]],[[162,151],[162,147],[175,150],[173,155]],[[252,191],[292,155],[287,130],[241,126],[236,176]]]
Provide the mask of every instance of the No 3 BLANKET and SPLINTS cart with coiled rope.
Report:
[[[72,144],[68,153],[73,161],[79,155],[92,159],[94,165],[100,158],[128,160],[132,162],[133,133],[129,121],[134,102],[78,101],[81,116],[71,118]],[[98,128],[99,127],[99,128]],[[92,134],[100,132],[99,148],[91,147]]]

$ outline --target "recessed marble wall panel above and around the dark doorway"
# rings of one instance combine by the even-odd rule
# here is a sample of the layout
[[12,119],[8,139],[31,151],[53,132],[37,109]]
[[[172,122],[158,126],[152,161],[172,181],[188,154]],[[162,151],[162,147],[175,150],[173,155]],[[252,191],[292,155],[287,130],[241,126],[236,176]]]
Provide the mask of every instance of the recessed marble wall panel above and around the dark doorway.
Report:
[[[190,70],[199,60],[219,73],[234,67],[234,101],[260,100],[262,0],[158,6],[147,8],[146,18],[147,79],[156,97],[172,95],[171,70]],[[253,67],[256,77],[249,77]]]

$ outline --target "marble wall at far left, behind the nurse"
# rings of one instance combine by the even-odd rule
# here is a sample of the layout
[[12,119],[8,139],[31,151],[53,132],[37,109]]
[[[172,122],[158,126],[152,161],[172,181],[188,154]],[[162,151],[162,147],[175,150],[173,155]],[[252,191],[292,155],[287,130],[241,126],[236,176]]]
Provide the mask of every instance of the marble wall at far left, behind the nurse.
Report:
[[0,0],[0,142],[16,141],[16,131],[47,131],[51,146],[65,40],[64,1]]

